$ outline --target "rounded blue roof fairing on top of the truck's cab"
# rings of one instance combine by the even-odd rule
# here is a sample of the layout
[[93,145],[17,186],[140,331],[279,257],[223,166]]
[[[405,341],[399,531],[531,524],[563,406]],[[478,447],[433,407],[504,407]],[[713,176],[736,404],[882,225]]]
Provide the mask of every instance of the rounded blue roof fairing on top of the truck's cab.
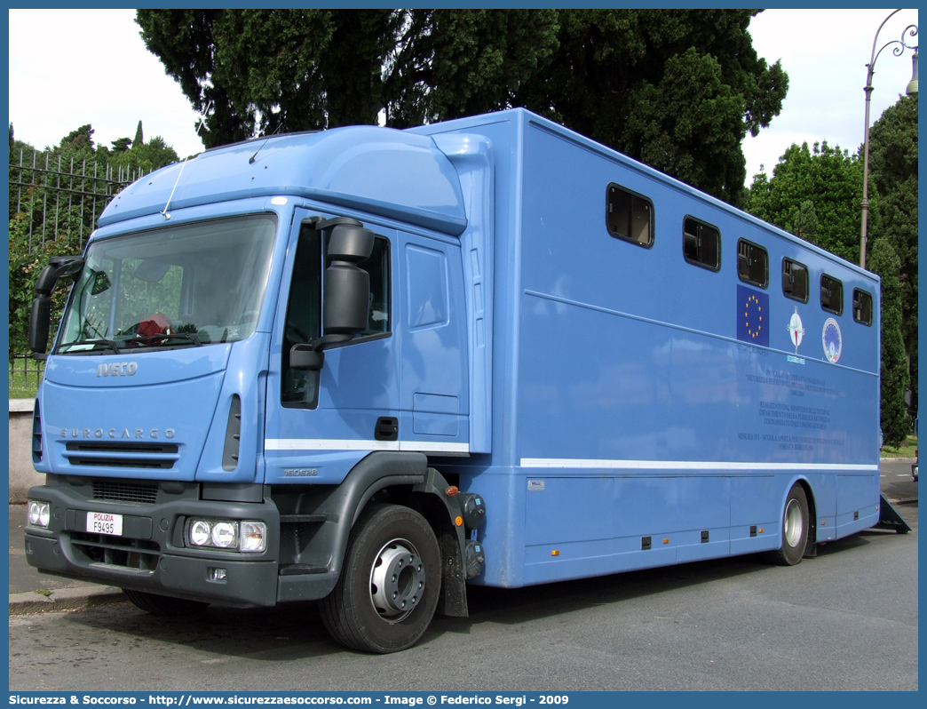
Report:
[[369,125],[207,150],[123,189],[99,226],[263,196],[320,200],[455,236],[466,226],[457,173],[432,138]]

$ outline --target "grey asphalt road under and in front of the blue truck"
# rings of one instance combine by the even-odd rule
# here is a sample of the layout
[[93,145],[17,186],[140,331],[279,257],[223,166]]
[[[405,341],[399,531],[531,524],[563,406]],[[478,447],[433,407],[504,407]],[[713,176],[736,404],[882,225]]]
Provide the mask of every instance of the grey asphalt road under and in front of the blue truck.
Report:
[[[754,557],[518,590],[473,588],[410,651],[341,650],[315,606],[161,619],[127,604],[10,618],[10,690],[917,690],[912,534],[867,531],[791,568]],[[423,669],[427,668],[427,669]]]

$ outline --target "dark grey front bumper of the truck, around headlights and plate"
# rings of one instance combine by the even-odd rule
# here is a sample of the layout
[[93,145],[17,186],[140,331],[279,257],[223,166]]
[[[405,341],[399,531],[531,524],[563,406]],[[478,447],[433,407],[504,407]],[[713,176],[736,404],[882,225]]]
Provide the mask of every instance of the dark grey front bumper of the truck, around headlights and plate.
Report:
[[[144,488],[147,500],[125,501],[127,495],[114,495],[121,483],[130,493]],[[100,498],[92,480],[49,475],[48,484],[29,491],[30,499],[51,504],[47,529],[26,527],[30,565],[82,581],[220,605],[276,603],[280,515],[273,502],[260,495],[242,496],[240,486],[237,495],[230,496],[260,501],[201,499],[197,483],[106,481],[104,489],[108,497]],[[122,515],[122,534],[86,532],[89,511]],[[267,549],[243,554],[190,548],[184,528],[191,517],[264,522]],[[224,573],[217,574],[218,569]]]

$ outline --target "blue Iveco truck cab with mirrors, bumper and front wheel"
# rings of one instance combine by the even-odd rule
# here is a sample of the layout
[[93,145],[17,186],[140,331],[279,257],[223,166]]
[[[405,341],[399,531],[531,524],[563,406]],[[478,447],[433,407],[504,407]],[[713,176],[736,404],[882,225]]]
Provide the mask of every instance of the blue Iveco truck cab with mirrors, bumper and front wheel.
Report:
[[429,460],[471,451],[475,222],[432,139],[376,128],[210,150],[124,190],[39,279],[30,562],[153,612],[328,598],[333,634],[373,651],[439,600],[465,614],[480,505]]

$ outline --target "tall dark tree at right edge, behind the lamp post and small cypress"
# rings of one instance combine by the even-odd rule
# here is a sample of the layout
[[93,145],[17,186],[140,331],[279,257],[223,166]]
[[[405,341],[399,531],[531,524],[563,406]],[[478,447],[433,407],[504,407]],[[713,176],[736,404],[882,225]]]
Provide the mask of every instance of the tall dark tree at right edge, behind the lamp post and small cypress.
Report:
[[901,332],[911,390],[918,392],[918,101],[901,97],[870,131],[870,175],[879,203],[870,238],[887,239],[898,255]]

